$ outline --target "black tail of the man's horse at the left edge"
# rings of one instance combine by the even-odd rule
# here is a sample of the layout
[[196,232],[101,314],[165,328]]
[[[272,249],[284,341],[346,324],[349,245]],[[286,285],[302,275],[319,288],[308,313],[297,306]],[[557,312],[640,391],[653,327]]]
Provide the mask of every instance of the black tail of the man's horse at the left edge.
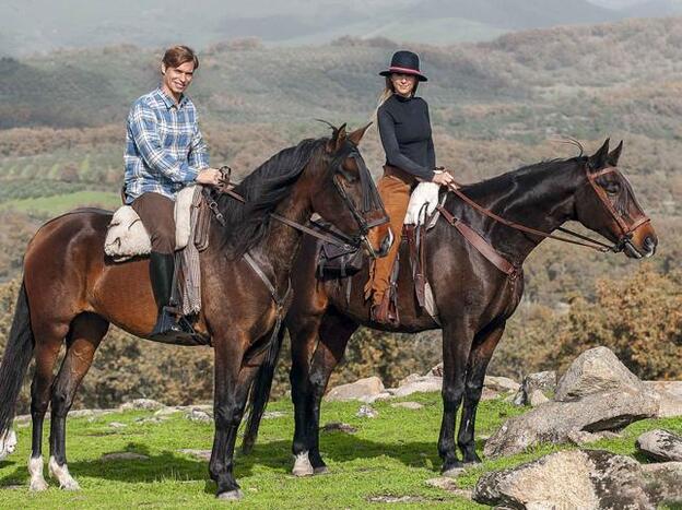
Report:
[[26,287],[22,282],[12,329],[0,364],[0,438],[12,427],[16,399],[33,357],[34,344],[28,298]]

